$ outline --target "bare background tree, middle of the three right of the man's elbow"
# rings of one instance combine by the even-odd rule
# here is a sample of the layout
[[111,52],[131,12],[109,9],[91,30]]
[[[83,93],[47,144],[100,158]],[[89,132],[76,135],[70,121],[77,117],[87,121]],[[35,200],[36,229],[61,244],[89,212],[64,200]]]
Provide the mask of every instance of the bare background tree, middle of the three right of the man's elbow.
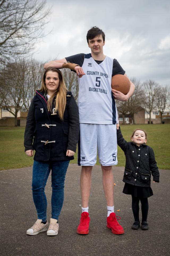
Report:
[[143,108],[149,111],[149,123],[151,123],[151,111],[156,107],[156,94],[158,91],[158,83],[153,80],[148,80],[142,84],[145,90],[145,101],[143,102]]

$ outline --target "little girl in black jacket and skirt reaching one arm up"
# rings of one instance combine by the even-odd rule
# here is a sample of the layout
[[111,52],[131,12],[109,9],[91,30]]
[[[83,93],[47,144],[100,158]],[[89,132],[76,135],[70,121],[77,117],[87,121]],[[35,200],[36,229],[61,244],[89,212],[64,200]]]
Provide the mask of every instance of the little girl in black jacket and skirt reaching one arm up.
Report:
[[159,170],[156,165],[154,151],[145,143],[147,135],[144,130],[135,129],[131,142],[125,141],[117,125],[117,144],[124,151],[126,165],[123,181],[123,193],[132,196],[132,211],[135,222],[132,229],[139,229],[139,201],[141,201],[142,223],[141,229],[147,230],[148,197],[153,195],[151,189],[151,174],[154,183],[159,182]]

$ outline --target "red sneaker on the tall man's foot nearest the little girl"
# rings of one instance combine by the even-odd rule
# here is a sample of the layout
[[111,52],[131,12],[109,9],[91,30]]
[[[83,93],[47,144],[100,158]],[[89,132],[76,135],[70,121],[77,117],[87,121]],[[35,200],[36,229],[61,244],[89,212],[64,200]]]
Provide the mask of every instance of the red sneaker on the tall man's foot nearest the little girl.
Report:
[[[120,235],[123,234],[125,231],[123,227],[118,223],[117,218],[119,216],[116,216],[115,213],[111,213],[109,217],[107,217],[107,227],[112,230],[113,234]],[[118,220],[120,220],[121,217],[119,217]]]

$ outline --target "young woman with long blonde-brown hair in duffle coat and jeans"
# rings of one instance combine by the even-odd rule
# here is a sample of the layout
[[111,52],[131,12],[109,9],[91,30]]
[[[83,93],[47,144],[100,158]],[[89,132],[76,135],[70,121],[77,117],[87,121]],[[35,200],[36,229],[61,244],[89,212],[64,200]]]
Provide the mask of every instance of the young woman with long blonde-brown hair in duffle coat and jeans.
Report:
[[[33,201],[38,219],[27,230],[36,235],[58,234],[58,218],[64,200],[64,181],[69,161],[74,159],[79,134],[78,107],[67,91],[60,70],[49,67],[43,75],[42,86],[36,91],[27,117],[24,146],[27,156],[33,156]],[[33,142],[33,144],[32,144]],[[52,175],[52,218],[47,221],[47,200],[44,192],[49,173]]]

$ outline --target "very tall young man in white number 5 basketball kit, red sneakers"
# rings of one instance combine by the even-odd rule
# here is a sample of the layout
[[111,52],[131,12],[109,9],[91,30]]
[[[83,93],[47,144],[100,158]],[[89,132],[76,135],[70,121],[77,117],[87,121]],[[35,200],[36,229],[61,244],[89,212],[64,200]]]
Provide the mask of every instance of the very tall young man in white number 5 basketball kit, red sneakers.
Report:
[[[113,75],[122,74],[127,77],[116,59],[103,54],[105,34],[98,27],[92,27],[87,33],[89,54],[76,54],[64,59],[51,61],[47,67],[63,68],[63,63],[75,63],[74,71],[79,82],[79,120],[80,138],[78,143],[78,165],[82,166],[80,188],[82,197],[82,214],[77,228],[78,234],[89,233],[90,217],[88,202],[91,188],[92,167],[96,163],[98,149],[99,162],[103,175],[103,188],[107,202],[107,227],[114,234],[123,234],[123,227],[117,222],[113,201],[113,172],[112,166],[117,165],[117,136],[116,123],[118,115],[114,101],[127,101],[133,94],[134,84],[130,81],[130,90],[124,95],[111,90]],[[76,66],[79,65],[79,66]],[[100,207],[100,206],[99,206]]]

